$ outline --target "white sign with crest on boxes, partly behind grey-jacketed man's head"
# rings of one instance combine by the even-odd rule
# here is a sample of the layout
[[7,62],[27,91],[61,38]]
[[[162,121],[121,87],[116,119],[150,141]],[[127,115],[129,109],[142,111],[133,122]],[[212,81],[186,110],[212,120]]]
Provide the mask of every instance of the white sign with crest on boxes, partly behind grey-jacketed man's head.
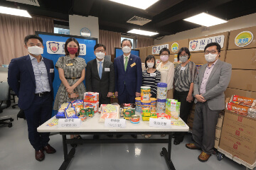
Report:
[[204,50],[204,47],[210,42],[217,42],[222,48],[224,45],[225,35],[217,35],[209,38],[201,38],[198,40],[189,41],[189,51],[201,51]]

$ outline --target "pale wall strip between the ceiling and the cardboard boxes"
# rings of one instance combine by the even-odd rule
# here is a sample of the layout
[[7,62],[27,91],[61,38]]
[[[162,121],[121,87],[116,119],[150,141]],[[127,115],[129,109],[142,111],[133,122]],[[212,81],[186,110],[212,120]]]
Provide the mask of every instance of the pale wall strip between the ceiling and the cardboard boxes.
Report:
[[228,23],[223,23],[217,26],[211,26],[210,30],[202,32],[200,28],[194,28],[192,30],[186,30],[180,33],[176,33],[174,35],[166,35],[161,40],[154,40],[154,45],[159,45],[164,42],[183,40],[186,38],[196,38],[204,35],[210,35],[215,33],[223,33],[230,30],[238,30],[240,28],[247,28],[256,26],[256,13],[252,13],[247,16],[241,16],[239,18],[234,18],[228,21]]

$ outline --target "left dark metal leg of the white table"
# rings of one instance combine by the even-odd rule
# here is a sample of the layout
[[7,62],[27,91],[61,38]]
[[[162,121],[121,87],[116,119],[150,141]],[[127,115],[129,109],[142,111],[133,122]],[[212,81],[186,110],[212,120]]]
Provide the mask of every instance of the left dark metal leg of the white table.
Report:
[[68,164],[70,164],[71,159],[74,157],[75,148],[70,149],[68,153],[68,145],[66,143],[67,137],[63,135],[63,154],[64,154],[64,162],[61,164],[59,170],[65,170],[68,168]]

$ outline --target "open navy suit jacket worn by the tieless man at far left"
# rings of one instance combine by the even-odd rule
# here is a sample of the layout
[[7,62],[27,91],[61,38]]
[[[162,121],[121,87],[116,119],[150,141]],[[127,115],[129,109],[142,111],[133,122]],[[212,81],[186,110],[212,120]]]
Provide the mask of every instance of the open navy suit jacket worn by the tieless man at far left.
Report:
[[[50,73],[50,69],[54,69],[53,60],[43,58],[43,62],[46,64],[50,92],[53,96],[54,72]],[[8,84],[18,96],[18,107],[22,110],[28,109],[36,92],[36,79],[29,55],[11,60],[8,69]]]

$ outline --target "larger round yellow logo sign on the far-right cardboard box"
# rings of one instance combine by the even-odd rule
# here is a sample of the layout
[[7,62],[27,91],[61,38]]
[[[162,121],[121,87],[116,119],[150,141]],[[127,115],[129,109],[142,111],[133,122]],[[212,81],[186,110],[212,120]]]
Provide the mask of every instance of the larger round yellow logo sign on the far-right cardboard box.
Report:
[[250,31],[242,31],[235,37],[235,45],[238,47],[245,47],[253,40],[253,34]]

